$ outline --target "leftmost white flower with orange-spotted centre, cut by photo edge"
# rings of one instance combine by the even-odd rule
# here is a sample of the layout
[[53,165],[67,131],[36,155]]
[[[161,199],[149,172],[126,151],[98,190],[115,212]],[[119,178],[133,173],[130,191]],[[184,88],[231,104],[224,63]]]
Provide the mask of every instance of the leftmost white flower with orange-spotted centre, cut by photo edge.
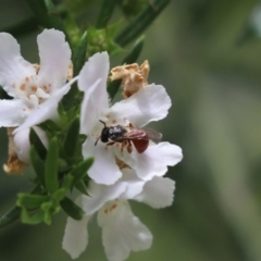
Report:
[[[38,37],[40,66],[23,59],[17,41],[0,33],[0,86],[12,100],[0,100],[0,127],[17,127],[15,134],[48,119],[58,116],[57,107],[69,91],[66,83],[71,49],[64,34],[45,29]],[[28,161],[28,130],[15,138],[15,146]],[[27,140],[27,142],[25,142]],[[27,146],[29,147],[29,146]],[[26,152],[25,152],[26,151]]]

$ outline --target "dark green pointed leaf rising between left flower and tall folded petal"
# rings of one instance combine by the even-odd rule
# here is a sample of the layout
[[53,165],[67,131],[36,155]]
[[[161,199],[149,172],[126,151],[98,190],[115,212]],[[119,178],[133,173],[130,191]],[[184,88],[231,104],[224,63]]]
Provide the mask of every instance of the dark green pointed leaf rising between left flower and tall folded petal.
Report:
[[87,41],[87,32],[85,32],[73,52],[74,75],[78,75],[86,61]]

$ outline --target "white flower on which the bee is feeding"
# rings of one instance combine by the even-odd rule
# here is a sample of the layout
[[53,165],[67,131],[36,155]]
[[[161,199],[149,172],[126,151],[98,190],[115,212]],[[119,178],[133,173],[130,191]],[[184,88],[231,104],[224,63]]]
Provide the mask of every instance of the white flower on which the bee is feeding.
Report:
[[154,144],[150,141],[145,152],[138,153],[133,146],[129,153],[121,145],[107,144],[97,139],[101,135],[103,121],[107,126],[144,127],[149,122],[166,116],[171,99],[161,85],[148,85],[128,99],[109,105],[107,78],[109,73],[109,57],[107,52],[97,53],[89,59],[79,73],[78,87],[85,92],[80,111],[80,133],[88,136],[83,146],[84,158],[95,157],[95,163],[88,175],[98,184],[111,185],[122,176],[115,157],[129,165],[144,181],[153,176],[162,176],[167,165],[175,165],[183,156],[179,147],[170,142]]

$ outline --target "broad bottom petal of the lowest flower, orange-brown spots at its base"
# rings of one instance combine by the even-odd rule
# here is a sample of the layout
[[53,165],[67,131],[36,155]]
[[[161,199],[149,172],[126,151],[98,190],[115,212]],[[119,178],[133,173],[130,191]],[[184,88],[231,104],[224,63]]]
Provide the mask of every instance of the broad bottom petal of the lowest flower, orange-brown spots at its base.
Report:
[[102,244],[110,261],[123,261],[129,252],[151,247],[150,231],[132,213],[127,201],[113,201],[98,212]]

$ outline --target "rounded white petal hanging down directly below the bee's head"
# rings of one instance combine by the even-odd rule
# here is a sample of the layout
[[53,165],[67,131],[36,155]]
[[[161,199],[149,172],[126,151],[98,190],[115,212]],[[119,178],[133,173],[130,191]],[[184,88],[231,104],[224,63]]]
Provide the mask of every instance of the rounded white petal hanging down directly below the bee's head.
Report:
[[122,172],[115,163],[115,156],[111,148],[107,148],[103,144],[98,142],[89,136],[83,145],[83,156],[85,159],[95,157],[95,162],[88,175],[98,184],[112,185],[121,176]]

